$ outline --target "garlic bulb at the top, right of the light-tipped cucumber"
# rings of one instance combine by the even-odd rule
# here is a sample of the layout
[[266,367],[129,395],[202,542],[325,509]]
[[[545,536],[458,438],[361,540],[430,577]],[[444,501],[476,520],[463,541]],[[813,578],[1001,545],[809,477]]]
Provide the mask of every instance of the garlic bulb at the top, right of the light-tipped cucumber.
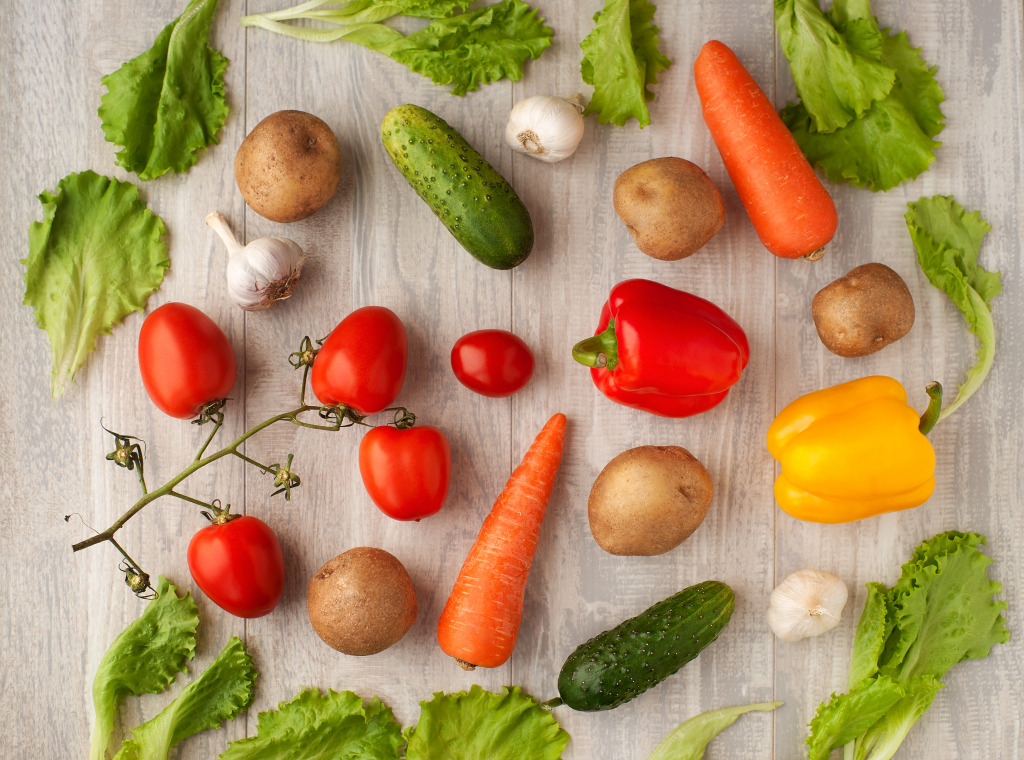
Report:
[[567,159],[582,139],[582,95],[527,97],[515,104],[505,127],[509,147],[548,163]]

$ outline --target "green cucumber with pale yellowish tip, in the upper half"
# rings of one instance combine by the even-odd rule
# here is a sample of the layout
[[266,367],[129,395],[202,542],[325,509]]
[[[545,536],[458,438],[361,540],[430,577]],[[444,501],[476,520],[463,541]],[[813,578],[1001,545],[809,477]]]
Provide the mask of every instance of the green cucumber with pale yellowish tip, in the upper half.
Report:
[[494,269],[511,269],[534,248],[529,212],[505,177],[438,116],[398,105],[381,139],[391,161],[449,231]]

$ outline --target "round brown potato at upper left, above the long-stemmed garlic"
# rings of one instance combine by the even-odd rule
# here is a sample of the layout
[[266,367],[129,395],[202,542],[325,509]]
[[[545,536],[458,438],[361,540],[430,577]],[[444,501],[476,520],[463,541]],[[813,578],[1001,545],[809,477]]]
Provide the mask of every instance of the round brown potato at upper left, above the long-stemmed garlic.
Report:
[[303,111],[257,124],[234,156],[234,181],[249,207],[271,221],[298,221],[334,198],[341,149],[331,127]]

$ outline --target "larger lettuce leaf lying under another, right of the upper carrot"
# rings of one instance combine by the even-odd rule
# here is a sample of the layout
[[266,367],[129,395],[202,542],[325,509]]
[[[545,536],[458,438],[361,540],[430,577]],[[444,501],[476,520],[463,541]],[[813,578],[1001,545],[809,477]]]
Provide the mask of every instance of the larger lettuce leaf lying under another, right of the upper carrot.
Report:
[[[776,2],[776,8],[781,1]],[[808,160],[834,182],[850,182],[877,192],[916,177],[935,161],[935,149],[940,143],[934,138],[943,127],[939,103],[944,97],[935,81],[935,67],[929,67],[920,49],[910,46],[906,33],[892,35],[880,30],[866,0],[836,0],[822,17],[831,30],[829,35],[842,39],[859,59],[877,60],[895,71],[895,81],[867,111],[826,133],[816,127],[816,120],[833,112],[814,112],[817,107],[813,93],[830,90],[831,80],[825,76],[824,67],[807,67],[803,79],[808,81],[797,82],[803,100],[787,104],[782,110],[782,121]],[[779,34],[781,37],[781,29]]]

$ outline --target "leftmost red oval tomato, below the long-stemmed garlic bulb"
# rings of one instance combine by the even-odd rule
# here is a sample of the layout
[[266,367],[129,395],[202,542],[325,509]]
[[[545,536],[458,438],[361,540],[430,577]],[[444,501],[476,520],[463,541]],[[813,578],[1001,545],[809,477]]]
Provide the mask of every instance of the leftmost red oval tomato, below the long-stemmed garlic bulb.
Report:
[[234,385],[234,351],[209,316],[186,303],[154,310],[138,334],[142,385],[157,407],[187,420]]

